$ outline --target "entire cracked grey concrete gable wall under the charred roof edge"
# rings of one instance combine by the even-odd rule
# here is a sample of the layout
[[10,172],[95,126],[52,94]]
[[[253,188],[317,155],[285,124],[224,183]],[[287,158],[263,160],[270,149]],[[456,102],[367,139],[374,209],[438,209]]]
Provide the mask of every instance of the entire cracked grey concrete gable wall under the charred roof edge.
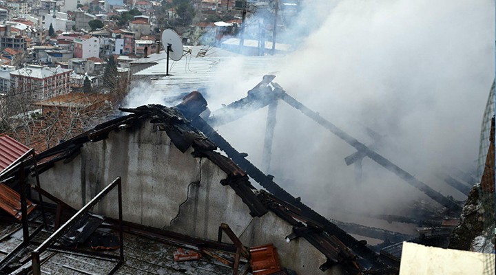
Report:
[[[286,243],[291,225],[276,214],[252,219],[236,192],[220,184],[227,174],[209,159],[192,157],[192,151],[180,152],[165,131],[145,122],[84,144],[72,162],[57,162],[41,174],[41,186],[79,209],[120,176],[126,221],[211,240],[220,223],[227,223],[244,245],[276,245],[282,266],[298,274],[342,274],[339,267],[318,270],[326,259],[306,240]],[[116,191],[93,212],[116,218]],[[223,241],[229,242],[226,235]]]

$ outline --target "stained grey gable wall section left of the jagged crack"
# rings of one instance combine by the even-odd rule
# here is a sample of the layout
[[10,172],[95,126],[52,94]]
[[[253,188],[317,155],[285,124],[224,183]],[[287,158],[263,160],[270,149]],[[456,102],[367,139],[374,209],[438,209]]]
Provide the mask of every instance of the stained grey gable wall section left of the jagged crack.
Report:
[[[136,129],[112,132],[106,140],[84,144],[72,162],[57,162],[40,179],[45,190],[81,208],[120,176],[123,217],[163,228],[185,201],[187,185],[198,181],[200,159],[191,152],[192,148],[180,152],[165,131],[155,131],[153,124],[145,122]],[[117,217],[116,190],[98,203],[94,212]]]

